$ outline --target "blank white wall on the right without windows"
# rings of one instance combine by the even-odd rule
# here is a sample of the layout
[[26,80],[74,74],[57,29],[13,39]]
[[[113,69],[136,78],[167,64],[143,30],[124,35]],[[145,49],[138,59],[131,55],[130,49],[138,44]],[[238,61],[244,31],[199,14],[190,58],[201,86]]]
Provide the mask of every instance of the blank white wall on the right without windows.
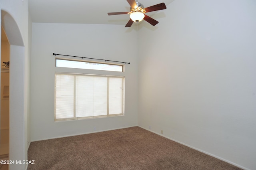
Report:
[[175,0],[138,42],[138,125],[256,167],[256,1]]

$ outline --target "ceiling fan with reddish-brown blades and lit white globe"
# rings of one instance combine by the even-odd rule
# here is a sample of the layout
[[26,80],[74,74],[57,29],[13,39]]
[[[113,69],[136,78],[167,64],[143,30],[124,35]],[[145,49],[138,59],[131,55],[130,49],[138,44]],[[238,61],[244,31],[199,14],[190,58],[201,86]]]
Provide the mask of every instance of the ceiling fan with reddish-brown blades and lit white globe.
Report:
[[150,16],[145,15],[146,12],[152,12],[152,11],[158,11],[158,10],[164,10],[166,9],[166,6],[164,3],[156,4],[147,8],[144,8],[144,6],[135,0],[127,0],[127,2],[130,4],[130,12],[109,12],[108,15],[120,15],[120,14],[130,14],[130,20],[126,24],[125,27],[132,26],[132,23],[138,23],[142,20],[145,20],[146,22],[150,23],[152,26],[155,26],[158,24],[158,21],[154,20]]

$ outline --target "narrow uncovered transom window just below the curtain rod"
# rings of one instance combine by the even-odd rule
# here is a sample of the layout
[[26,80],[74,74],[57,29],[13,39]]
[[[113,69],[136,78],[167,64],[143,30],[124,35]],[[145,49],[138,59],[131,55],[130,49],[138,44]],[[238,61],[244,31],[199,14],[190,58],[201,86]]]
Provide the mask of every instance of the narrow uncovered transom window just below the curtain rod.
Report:
[[73,60],[66,60],[66,59],[56,59],[56,67],[119,71],[119,72],[123,71],[122,65],[93,63],[93,62],[88,62],[88,61],[73,61]]

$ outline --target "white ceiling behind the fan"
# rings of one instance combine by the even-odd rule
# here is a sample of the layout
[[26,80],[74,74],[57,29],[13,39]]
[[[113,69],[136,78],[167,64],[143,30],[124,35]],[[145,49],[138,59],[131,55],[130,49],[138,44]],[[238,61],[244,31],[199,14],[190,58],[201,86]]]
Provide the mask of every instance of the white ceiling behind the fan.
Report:
[[[174,0],[140,0],[144,7]],[[126,0],[29,0],[32,22],[71,24],[120,24],[126,25],[129,15],[108,16],[108,12],[129,12]],[[156,12],[164,12],[160,10]],[[147,13],[148,16],[156,12]]]

